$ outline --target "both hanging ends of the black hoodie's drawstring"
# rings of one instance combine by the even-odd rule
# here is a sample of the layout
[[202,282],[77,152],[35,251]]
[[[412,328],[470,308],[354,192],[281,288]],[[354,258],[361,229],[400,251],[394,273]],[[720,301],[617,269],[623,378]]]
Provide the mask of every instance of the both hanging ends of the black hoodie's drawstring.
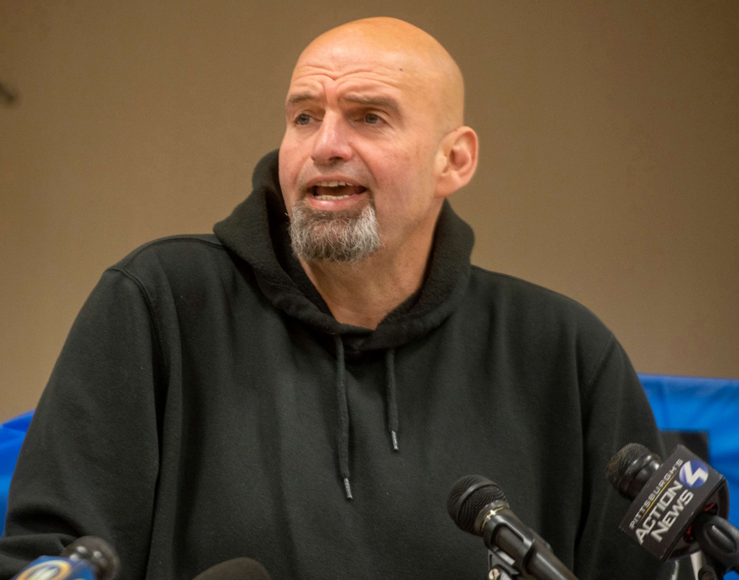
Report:
[[[353,499],[349,482],[349,400],[347,398],[347,363],[344,357],[344,341],[335,335],[336,342],[336,400],[338,402],[338,471],[344,482],[347,499]],[[392,450],[398,451],[398,399],[395,389],[395,349],[385,352],[385,399],[387,424],[392,440]]]

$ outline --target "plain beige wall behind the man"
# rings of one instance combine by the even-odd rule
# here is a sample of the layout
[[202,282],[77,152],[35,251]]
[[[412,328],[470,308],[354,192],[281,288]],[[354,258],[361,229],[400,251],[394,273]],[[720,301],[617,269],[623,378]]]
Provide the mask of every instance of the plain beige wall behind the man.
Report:
[[739,378],[738,1],[0,0],[0,420],[107,266],[248,194],[302,47],[376,15],[466,75],[474,262],[581,301],[640,372]]

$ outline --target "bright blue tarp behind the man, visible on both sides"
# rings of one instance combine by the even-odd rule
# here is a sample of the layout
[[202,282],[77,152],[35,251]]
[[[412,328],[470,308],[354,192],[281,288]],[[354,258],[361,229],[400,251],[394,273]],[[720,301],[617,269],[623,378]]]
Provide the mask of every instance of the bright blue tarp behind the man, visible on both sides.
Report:
[[[639,378],[660,429],[708,433],[709,463],[729,482],[734,499],[729,520],[739,525],[739,381],[660,375]],[[0,425],[0,533],[10,477],[32,416],[33,411],[27,412]]]

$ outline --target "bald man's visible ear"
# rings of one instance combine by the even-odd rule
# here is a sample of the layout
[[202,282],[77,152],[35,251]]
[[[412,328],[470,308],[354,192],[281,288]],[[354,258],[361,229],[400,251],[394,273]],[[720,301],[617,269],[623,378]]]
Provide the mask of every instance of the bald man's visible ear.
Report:
[[447,134],[436,154],[436,197],[447,197],[469,183],[477,168],[477,134],[462,126]]

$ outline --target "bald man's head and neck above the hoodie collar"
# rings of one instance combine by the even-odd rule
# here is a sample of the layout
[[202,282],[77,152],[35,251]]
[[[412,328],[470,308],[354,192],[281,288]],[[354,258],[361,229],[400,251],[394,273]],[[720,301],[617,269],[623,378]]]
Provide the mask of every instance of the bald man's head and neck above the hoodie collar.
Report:
[[279,182],[293,249],[336,320],[375,329],[420,288],[443,200],[477,166],[463,105],[449,53],[395,18],[344,24],[300,55]]

